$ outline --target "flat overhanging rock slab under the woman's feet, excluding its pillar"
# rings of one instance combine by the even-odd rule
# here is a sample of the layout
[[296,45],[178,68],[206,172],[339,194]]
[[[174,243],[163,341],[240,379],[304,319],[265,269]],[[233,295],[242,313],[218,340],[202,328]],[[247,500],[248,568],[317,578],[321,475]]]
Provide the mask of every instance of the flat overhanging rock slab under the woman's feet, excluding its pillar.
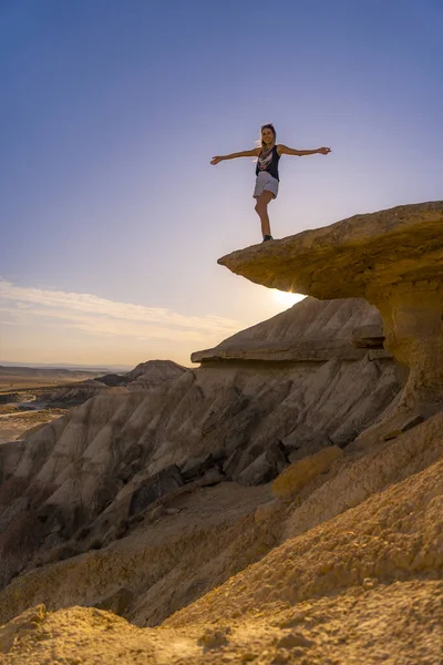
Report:
[[443,201],[356,215],[218,259],[270,288],[316,298],[364,297],[368,287],[443,280]]

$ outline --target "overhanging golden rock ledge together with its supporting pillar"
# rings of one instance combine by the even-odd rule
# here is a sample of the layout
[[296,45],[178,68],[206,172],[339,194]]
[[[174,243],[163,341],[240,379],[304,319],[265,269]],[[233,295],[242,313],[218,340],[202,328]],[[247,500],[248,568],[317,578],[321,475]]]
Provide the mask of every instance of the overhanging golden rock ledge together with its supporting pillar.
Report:
[[385,348],[410,370],[400,406],[443,401],[443,202],[357,215],[219,259],[268,287],[320,299],[362,297]]

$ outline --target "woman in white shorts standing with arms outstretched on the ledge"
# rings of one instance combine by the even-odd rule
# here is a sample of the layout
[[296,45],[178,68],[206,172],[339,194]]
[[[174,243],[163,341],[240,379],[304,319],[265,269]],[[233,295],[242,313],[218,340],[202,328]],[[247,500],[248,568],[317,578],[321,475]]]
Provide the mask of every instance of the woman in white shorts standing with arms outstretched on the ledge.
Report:
[[268,204],[272,198],[277,197],[278,194],[278,162],[281,155],[297,155],[302,157],[305,155],[327,155],[331,152],[330,147],[318,147],[317,150],[295,150],[279,143],[276,144],[276,130],[272,124],[266,124],[261,127],[261,144],[254,150],[245,150],[240,153],[233,153],[230,155],[224,155],[213,157],[210,163],[216,165],[223,160],[235,160],[236,157],[257,157],[256,166],[256,188],[254,190],[254,198],[256,198],[256,212],[261,221],[261,233],[264,243],[266,241],[272,241],[270,234],[269,216],[268,216]]

